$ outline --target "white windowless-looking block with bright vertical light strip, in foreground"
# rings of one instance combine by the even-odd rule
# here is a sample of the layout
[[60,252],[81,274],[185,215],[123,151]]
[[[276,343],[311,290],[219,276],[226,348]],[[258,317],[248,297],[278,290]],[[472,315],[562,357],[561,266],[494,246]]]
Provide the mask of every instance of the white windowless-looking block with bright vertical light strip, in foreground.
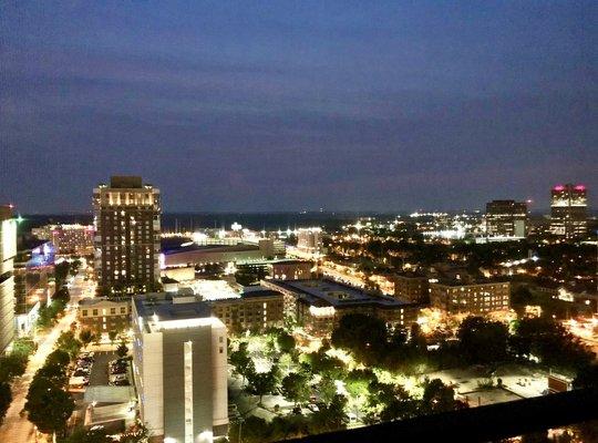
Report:
[[133,299],[133,374],[141,421],[164,442],[227,434],[226,327],[195,296]]

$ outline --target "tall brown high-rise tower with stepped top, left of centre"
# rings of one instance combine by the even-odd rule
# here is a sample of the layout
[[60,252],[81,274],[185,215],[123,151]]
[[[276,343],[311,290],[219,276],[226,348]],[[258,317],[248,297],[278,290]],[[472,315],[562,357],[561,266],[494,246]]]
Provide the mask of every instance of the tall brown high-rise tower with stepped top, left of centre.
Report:
[[159,279],[159,189],[141,177],[112,177],[110,186],[93,190],[93,210],[101,291],[150,290]]

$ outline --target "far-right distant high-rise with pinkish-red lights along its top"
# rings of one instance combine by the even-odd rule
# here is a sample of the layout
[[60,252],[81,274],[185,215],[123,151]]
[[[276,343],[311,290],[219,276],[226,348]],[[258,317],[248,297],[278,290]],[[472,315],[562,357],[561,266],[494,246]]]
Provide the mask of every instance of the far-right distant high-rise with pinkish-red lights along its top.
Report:
[[586,235],[587,189],[584,185],[557,185],[553,187],[550,202],[550,231],[567,239]]

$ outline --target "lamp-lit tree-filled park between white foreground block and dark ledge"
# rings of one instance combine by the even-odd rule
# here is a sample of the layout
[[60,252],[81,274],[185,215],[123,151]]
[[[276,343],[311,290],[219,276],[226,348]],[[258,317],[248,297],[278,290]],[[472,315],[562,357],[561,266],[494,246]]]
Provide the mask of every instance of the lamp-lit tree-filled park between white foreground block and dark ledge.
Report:
[[330,339],[297,326],[231,337],[231,441],[277,441],[543,395],[548,368],[570,373],[592,359],[549,320],[470,317],[441,343],[434,338],[429,346],[431,337],[416,323],[388,330],[362,315],[343,317]]

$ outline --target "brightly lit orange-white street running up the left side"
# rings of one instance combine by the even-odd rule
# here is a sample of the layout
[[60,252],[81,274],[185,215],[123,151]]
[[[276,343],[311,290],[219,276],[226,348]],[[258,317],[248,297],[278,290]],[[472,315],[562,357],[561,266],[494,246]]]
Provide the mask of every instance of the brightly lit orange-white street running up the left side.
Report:
[[76,293],[76,299],[73,297],[71,300],[70,308],[65,311],[64,317],[60,319],[56,324],[47,333],[38,334],[38,350],[29,359],[25,373],[14,381],[12,384],[12,403],[7,411],[7,416],[4,422],[0,426],[0,441],[3,442],[34,442],[34,426],[33,424],[23,416],[20,415],[24,404],[27,392],[29,391],[29,384],[31,379],[40,369],[45,359],[54,349],[54,343],[56,342],[60,333],[70,328],[71,323],[76,318],[76,302],[79,297],[86,296],[89,293],[89,288],[92,284],[84,281],[82,275],[73,280],[72,288],[70,291]]

